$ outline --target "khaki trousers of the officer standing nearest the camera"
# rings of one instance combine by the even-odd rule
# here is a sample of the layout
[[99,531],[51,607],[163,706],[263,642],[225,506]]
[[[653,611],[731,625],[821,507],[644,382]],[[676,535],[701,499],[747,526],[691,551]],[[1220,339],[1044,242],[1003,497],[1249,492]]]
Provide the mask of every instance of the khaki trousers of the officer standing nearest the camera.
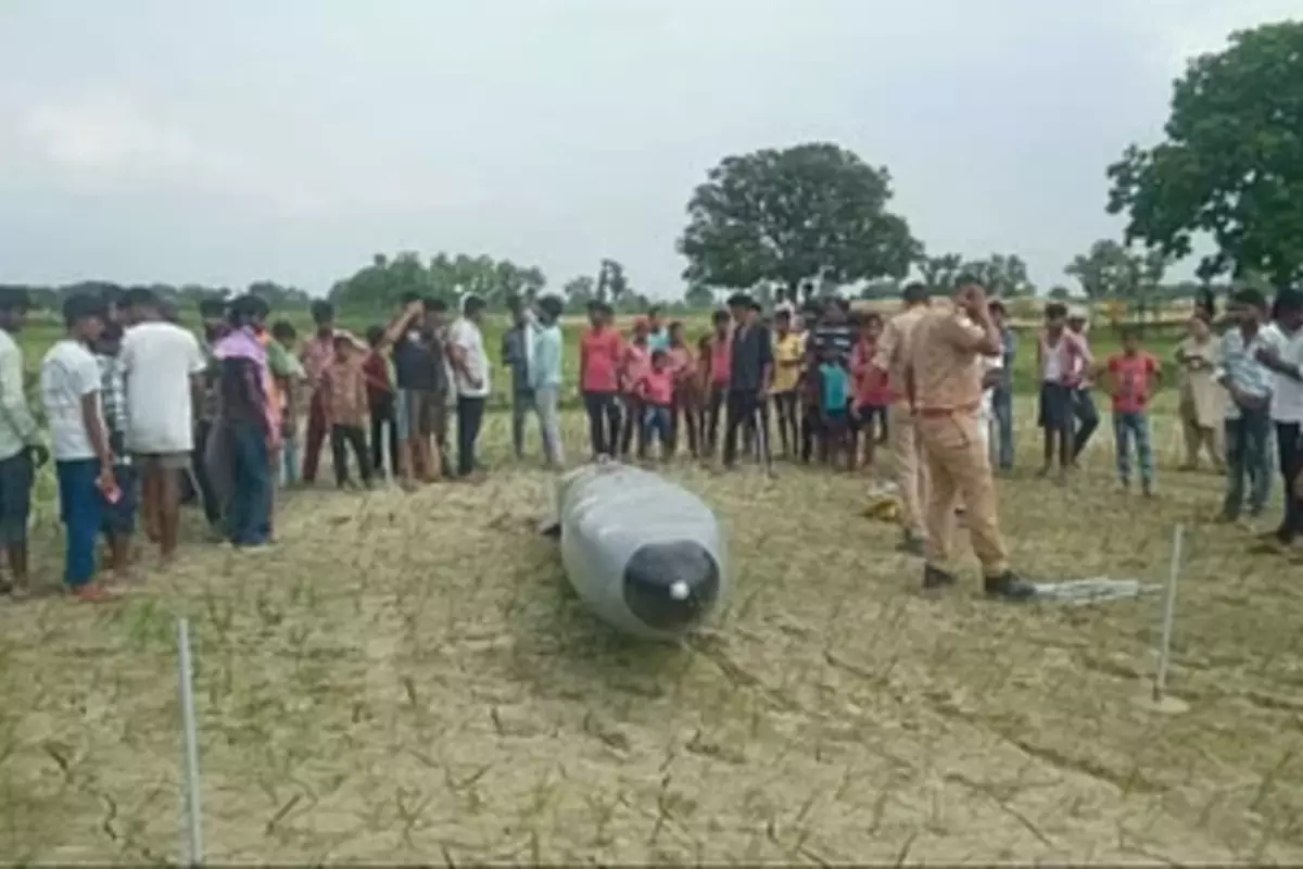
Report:
[[982,442],[977,410],[915,417],[920,452],[925,456],[930,487],[925,513],[928,564],[951,572],[955,550],[955,508],[966,508],[968,535],[982,573],[1001,576],[1009,569],[1005,542],[999,537],[995,481],[990,456]]

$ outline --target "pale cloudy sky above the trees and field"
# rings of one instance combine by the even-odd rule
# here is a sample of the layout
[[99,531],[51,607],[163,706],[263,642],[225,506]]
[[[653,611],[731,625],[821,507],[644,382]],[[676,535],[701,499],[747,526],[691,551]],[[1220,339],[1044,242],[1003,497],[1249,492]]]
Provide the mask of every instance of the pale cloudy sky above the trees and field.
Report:
[[[831,141],[929,251],[1041,287],[1105,167],[1299,0],[0,0],[0,283],[270,279],[486,253],[675,297],[721,158]],[[1187,270],[1178,270],[1178,274]]]

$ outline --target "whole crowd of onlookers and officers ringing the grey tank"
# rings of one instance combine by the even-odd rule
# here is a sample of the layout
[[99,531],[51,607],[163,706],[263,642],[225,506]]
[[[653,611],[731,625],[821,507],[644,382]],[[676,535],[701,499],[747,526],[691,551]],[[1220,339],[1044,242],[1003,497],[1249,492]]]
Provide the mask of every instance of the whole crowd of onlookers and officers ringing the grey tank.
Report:
[[[668,460],[685,447],[701,459],[718,451],[731,468],[739,440],[769,459],[777,427],[780,457],[855,470],[890,444],[900,548],[924,556],[924,585],[954,581],[963,516],[988,593],[1029,597],[1032,586],[1005,555],[993,482],[1015,457],[1018,340],[1006,310],[969,279],[949,302],[933,304],[921,284],[907,287],[903,302],[886,321],[843,300],[800,310],[780,304],[766,317],[736,293],[696,341],[654,307],[622,334],[611,307],[593,302],[577,371],[592,455]],[[26,404],[13,340],[26,307],[21,291],[0,289],[0,545],[13,594],[27,589],[34,472],[51,453],[66,526],[64,581],[83,601],[116,594],[96,568],[100,539],[108,573],[129,575],[137,513],[160,559],[172,559],[192,482],[212,535],[257,550],[274,539],[278,482],[314,482],[327,440],[340,487],[370,486],[382,469],[409,491],[481,473],[476,447],[491,370],[478,297],[463,300],[455,318],[439,300],[404,297],[394,319],[365,339],[336,328],[331,306],[317,302],[314,331],[300,345],[289,322],[267,326],[270,311],[255,296],[205,301],[202,337],[149,289],[73,296],[63,309],[65,335],[40,363],[48,448]],[[536,418],[554,468],[566,463],[560,315],[556,297],[515,304],[500,348],[511,374],[512,448],[524,456],[526,422]],[[1257,515],[1274,440],[1286,509],[1270,537],[1289,546],[1303,530],[1303,294],[1280,293],[1268,315],[1261,294],[1240,291],[1227,315],[1217,336],[1210,300],[1200,305],[1174,358],[1184,466],[1207,452],[1226,473],[1224,517]],[[1036,374],[1040,473],[1062,482],[1076,466],[1098,426],[1092,392],[1101,384],[1118,479],[1130,487],[1135,464],[1152,496],[1148,406],[1164,366],[1141,348],[1140,334],[1124,328],[1121,352],[1100,362],[1085,313],[1050,302],[1036,336]]]

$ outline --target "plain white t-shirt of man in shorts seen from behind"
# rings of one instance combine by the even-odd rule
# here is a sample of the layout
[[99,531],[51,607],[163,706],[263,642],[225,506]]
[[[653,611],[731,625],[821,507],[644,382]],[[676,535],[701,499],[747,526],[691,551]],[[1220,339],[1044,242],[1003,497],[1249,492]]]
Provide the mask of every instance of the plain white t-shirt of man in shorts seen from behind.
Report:
[[126,446],[141,453],[194,449],[192,378],[207,367],[189,330],[163,321],[126,330],[119,353],[126,377]]

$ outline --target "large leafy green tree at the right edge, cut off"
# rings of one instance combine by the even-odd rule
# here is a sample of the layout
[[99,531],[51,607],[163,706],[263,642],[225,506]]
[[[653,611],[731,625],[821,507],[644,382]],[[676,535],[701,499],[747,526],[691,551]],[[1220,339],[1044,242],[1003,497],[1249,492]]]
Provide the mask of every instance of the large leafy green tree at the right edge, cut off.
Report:
[[1251,270],[1277,285],[1303,278],[1303,21],[1231,35],[1177,81],[1166,141],[1130,146],[1109,167],[1111,214],[1127,212],[1127,242],[1167,257],[1207,232],[1208,280]]

